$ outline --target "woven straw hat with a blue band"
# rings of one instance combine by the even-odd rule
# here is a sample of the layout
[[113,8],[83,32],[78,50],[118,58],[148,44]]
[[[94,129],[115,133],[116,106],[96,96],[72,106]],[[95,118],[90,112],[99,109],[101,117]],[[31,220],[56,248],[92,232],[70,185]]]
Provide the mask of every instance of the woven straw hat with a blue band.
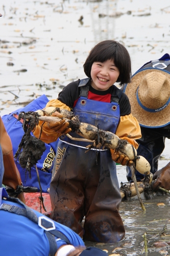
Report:
[[158,128],[170,123],[170,72],[153,68],[151,64],[143,66],[132,76],[124,92],[129,97],[131,113],[139,124]]

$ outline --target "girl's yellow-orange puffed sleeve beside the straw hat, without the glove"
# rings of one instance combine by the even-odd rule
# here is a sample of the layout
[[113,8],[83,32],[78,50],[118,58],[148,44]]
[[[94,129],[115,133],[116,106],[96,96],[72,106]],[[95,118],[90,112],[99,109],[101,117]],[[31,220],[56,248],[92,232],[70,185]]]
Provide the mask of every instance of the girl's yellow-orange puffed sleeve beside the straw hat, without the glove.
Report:
[[137,150],[138,143],[135,140],[141,138],[141,130],[137,119],[132,114],[120,117],[115,134],[120,139],[128,140]]

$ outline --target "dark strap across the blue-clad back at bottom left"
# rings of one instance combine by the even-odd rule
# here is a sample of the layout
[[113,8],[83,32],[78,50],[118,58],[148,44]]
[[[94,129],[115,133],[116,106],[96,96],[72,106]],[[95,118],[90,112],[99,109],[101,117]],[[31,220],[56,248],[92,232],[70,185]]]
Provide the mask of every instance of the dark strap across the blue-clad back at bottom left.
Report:
[[[35,222],[36,224],[38,224],[38,217],[36,216],[35,212],[29,208],[27,205],[25,205],[24,203],[22,203],[19,199],[17,198],[10,198],[8,197],[9,201],[12,202],[17,202],[19,204],[22,204],[25,208],[20,208],[18,206],[14,206],[14,205],[10,205],[10,204],[2,204],[0,206],[0,210],[6,210],[9,211],[13,214],[17,214],[17,215],[22,215],[27,217],[28,219],[30,219],[31,221]],[[47,221],[47,219],[45,218],[42,219],[41,221],[43,221],[43,227],[48,228],[49,225],[51,225],[50,221]],[[69,240],[66,238],[66,236],[61,233],[60,231],[58,231],[57,229],[54,230],[44,230],[48,239],[48,242],[50,244],[50,252],[49,252],[49,256],[54,256],[56,251],[57,251],[57,244],[56,244],[56,240],[55,237],[62,239],[63,241],[65,241],[67,244],[70,244]]]

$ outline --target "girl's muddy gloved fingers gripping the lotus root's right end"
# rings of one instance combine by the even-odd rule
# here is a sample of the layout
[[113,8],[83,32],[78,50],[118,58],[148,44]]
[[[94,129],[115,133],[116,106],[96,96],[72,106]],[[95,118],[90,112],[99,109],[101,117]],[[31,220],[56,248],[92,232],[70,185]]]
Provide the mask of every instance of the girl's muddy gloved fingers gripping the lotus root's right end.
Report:
[[123,154],[121,154],[118,151],[112,150],[110,149],[111,152],[111,156],[112,156],[112,160],[116,163],[120,163],[123,166],[127,165],[127,166],[132,166],[133,161],[129,160],[128,156],[124,156]]

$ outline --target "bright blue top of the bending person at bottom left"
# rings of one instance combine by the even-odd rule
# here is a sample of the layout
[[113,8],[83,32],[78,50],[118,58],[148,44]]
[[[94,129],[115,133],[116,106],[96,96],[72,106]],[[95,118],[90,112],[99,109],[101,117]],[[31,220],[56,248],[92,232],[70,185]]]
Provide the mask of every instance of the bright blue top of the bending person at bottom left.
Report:
[[[13,198],[8,197],[5,188],[0,188],[0,254],[6,256],[49,255],[50,244],[42,227],[25,216],[12,213],[12,210],[2,209],[3,204],[9,205],[9,207],[12,205],[17,206],[19,209],[29,208],[18,199],[14,199],[14,201]],[[33,211],[37,217],[44,218],[44,215],[40,214],[40,212],[31,208],[29,210]],[[70,228],[47,217],[45,218],[54,223],[56,230],[63,233],[71,245],[84,246],[83,240]],[[57,248],[67,244],[64,240],[59,239],[59,237],[55,237],[55,239]]]

